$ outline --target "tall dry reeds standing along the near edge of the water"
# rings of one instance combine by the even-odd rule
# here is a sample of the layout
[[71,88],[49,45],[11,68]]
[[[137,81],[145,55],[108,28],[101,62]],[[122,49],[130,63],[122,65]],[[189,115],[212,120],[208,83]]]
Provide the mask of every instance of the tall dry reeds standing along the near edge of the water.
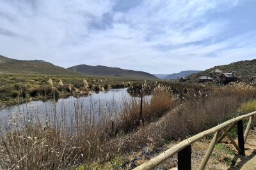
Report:
[[[155,91],[143,97],[143,117],[146,124],[157,120],[170,108],[170,93]],[[88,169],[97,159],[106,157],[106,144],[116,136],[136,131],[140,127],[140,100],[115,102],[90,110],[77,101],[71,113],[65,111],[36,113],[23,111],[1,122],[0,169],[68,169],[84,164]]]

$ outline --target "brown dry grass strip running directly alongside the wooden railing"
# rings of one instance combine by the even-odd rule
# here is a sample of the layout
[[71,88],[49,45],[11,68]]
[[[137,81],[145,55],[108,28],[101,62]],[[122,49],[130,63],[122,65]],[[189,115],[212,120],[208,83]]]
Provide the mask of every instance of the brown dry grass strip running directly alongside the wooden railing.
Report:
[[237,117],[241,104],[255,99],[256,89],[243,83],[215,88],[207,94],[184,94],[184,101],[157,122],[109,142],[109,154],[136,152],[147,146],[161,146],[166,141],[188,138]]

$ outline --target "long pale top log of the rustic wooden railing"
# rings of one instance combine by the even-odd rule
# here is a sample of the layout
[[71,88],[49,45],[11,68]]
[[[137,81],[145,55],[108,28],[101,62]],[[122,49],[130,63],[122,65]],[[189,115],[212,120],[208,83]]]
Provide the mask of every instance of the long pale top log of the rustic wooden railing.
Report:
[[[175,153],[180,152],[181,150],[183,150],[184,148],[188,147],[189,145],[195,143],[196,141],[199,141],[200,139],[204,138],[205,136],[208,136],[209,134],[213,134],[215,133],[216,135],[214,136],[214,141],[212,141],[212,145],[214,146],[214,144],[218,143],[219,139],[223,139],[225,137],[225,133],[228,133],[228,131],[230,131],[232,129],[232,127],[234,127],[234,125],[239,122],[239,127],[237,125],[237,130],[239,131],[239,146],[241,147],[241,145],[243,145],[243,147],[240,148],[239,153],[240,152],[244,152],[244,139],[247,138],[248,132],[250,129],[250,125],[252,124],[252,120],[253,120],[253,115],[256,114],[256,111],[253,111],[252,113],[248,113],[246,115],[242,115],[236,118],[232,118],[230,120],[228,120],[227,122],[224,122],[220,125],[217,125],[216,127],[212,127],[211,129],[208,129],[204,132],[200,132],[199,134],[196,134],[195,136],[192,136],[191,138],[185,139],[183,141],[181,141],[180,143],[178,143],[177,145],[173,146],[172,148],[164,151],[163,153],[160,153],[159,155],[157,155],[156,157],[148,160],[147,162],[141,164],[140,166],[134,168],[134,170],[140,170],[140,169],[153,169],[154,167],[156,167],[157,165],[161,164],[162,162],[164,162],[164,160],[167,160],[168,158],[172,157],[172,155],[174,155]],[[241,130],[241,123],[243,125],[243,119],[244,118],[249,118],[250,117],[250,122],[246,127],[246,134],[244,134],[243,136],[243,127]],[[225,129],[228,125],[230,125],[230,128]],[[238,129],[239,128],[239,129]],[[220,136],[220,138],[218,137],[218,134],[223,131],[223,129],[225,129],[225,133]],[[241,132],[242,131],[242,132]],[[241,141],[241,136],[243,138],[243,141]],[[228,137],[230,137],[228,135]],[[232,139],[231,139],[232,140]],[[232,141],[233,142],[233,141]],[[211,146],[212,147],[212,146]],[[211,149],[211,148],[210,148]],[[210,150],[209,149],[209,150]],[[212,151],[212,150],[210,150]],[[207,161],[208,158],[208,154],[205,157],[205,160]],[[179,162],[179,160],[178,160]],[[207,163],[207,162],[206,162]],[[204,166],[201,166],[204,167]],[[179,169],[179,167],[178,167]]]

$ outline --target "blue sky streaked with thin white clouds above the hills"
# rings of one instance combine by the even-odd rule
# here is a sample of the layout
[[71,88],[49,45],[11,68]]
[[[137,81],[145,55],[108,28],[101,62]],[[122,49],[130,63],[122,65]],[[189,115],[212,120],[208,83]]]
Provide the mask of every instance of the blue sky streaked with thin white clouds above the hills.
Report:
[[0,55],[177,73],[256,58],[255,0],[0,0]]

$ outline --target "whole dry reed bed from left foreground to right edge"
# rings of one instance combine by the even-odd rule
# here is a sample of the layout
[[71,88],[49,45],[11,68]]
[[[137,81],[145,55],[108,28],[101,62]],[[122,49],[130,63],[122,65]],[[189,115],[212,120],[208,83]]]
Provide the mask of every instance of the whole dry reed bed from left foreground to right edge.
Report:
[[244,84],[218,88],[207,96],[186,94],[182,104],[164,115],[175,102],[166,90],[157,90],[150,103],[143,101],[143,126],[138,120],[140,103],[135,100],[124,101],[118,117],[112,116],[116,111],[99,115],[97,121],[93,113],[77,107],[70,126],[56,117],[48,124],[36,117],[13,118],[8,127],[1,127],[0,169],[67,169],[80,164],[90,169],[95,160],[104,162],[204,131],[236,115],[239,105],[255,96],[255,88]]

